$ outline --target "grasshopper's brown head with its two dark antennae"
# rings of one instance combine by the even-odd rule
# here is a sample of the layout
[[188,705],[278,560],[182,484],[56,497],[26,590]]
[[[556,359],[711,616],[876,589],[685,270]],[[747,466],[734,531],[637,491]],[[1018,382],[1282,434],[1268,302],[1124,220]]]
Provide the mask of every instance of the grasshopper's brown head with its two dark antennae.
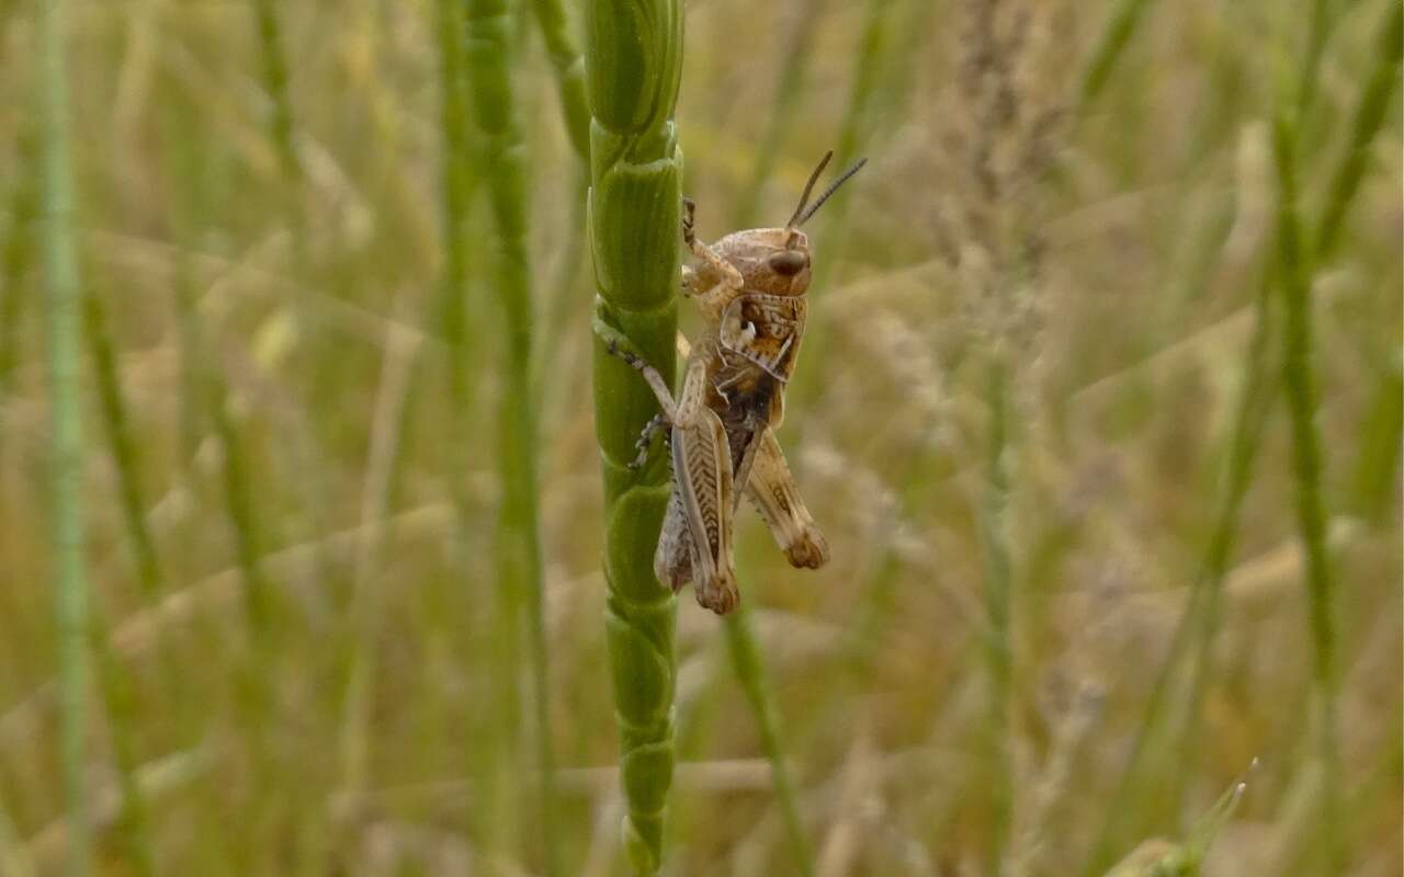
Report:
[[799,198],[799,206],[795,208],[795,213],[783,229],[734,232],[717,241],[717,253],[741,272],[747,290],[781,296],[800,296],[809,292],[809,237],[799,227],[866,161],[862,159],[844,171],[833,185],[824,189],[823,195],[810,203],[809,195],[814,191],[819,175],[824,173],[824,167],[833,157],[833,152],[826,153],[819,167],[810,174],[804,194]]

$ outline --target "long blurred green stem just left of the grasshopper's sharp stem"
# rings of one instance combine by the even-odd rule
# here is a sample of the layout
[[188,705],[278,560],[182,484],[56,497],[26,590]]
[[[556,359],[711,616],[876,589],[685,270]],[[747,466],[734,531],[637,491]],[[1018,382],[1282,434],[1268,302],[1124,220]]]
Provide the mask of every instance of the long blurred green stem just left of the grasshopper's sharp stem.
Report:
[[[532,394],[532,283],[528,255],[525,149],[511,83],[512,8],[507,0],[468,0],[465,35],[473,123],[483,146],[494,219],[493,281],[504,316],[505,362],[498,407],[503,505],[497,529],[498,588],[508,636],[521,613],[535,683],[541,836],[548,874],[560,873],[556,848],[555,758],[550,744],[545,608],[536,498],[536,403]],[[515,651],[512,647],[511,651]]]

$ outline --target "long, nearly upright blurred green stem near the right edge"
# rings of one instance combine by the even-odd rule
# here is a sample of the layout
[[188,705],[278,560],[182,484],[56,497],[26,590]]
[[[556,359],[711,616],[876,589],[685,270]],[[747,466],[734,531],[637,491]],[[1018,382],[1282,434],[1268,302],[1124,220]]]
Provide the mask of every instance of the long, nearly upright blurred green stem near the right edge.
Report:
[[1292,462],[1297,493],[1297,526],[1306,553],[1306,585],[1313,662],[1311,734],[1323,770],[1320,843],[1323,873],[1339,873],[1339,759],[1337,754],[1337,619],[1335,577],[1327,557],[1325,511],[1321,500],[1321,439],[1317,434],[1317,384],[1311,366],[1311,268],[1303,254],[1297,215],[1294,112],[1273,125],[1278,167],[1278,274],[1283,299],[1282,380],[1292,421]]

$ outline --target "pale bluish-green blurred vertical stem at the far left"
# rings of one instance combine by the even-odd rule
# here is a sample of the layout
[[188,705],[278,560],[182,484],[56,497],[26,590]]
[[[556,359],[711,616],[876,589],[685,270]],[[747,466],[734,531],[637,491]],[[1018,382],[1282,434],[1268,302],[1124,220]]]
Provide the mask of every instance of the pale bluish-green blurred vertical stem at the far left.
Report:
[[60,744],[67,812],[67,873],[90,870],[86,744],[88,718],[88,582],[84,558],[80,288],[73,232],[63,0],[39,4],[39,108],[44,156],[44,251],[48,272],[52,410],[53,596],[58,631]]

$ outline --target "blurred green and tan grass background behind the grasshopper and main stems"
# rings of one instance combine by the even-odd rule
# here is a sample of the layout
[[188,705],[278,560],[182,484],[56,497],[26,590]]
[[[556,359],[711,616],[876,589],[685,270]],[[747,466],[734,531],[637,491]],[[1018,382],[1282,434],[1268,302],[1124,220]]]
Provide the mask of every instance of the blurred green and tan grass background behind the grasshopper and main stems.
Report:
[[[83,843],[39,1],[0,1],[4,874]],[[493,436],[526,406],[552,846],[559,873],[625,873],[562,46],[512,4],[522,397],[472,105],[445,130],[448,0],[66,6],[93,871],[546,873],[532,671],[496,585]],[[781,432],[834,560],[790,570],[750,512],[737,533],[800,838],[757,695],[684,595],[665,874],[1191,873],[1210,834],[1205,874],[1400,873],[1397,21],[1396,0],[687,4],[701,237],[778,225],[827,149],[869,166],[809,230]]]

